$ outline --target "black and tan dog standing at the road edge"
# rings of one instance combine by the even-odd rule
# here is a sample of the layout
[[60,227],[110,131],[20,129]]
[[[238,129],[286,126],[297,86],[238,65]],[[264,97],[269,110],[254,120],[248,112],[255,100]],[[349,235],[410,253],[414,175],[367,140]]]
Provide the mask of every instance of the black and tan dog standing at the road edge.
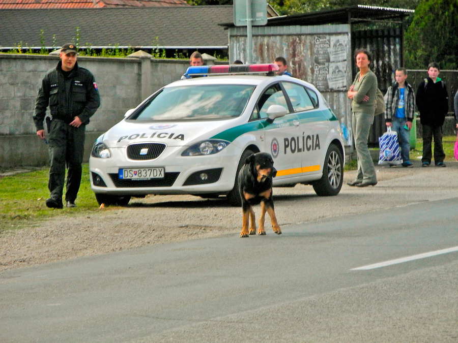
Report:
[[[276,234],[281,234],[280,227],[275,216],[272,200],[272,178],[277,174],[273,166],[272,156],[266,152],[258,152],[249,155],[245,165],[239,173],[239,191],[242,197],[242,233],[240,237],[256,234],[256,222],[253,205],[261,203],[261,217],[259,219],[259,235],[265,235],[264,219],[266,212],[269,213],[272,229]],[[248,220],[250,229],[248,231]]]

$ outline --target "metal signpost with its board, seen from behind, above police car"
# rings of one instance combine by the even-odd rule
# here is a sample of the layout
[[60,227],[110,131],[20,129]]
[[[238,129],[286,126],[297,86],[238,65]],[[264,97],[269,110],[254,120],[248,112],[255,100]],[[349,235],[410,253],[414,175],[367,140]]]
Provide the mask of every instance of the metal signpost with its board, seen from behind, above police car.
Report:
[[267,0],[234,0],[234,25],[246,26],[246,64],[252,63],[253,59],[251,26],[266,24]]

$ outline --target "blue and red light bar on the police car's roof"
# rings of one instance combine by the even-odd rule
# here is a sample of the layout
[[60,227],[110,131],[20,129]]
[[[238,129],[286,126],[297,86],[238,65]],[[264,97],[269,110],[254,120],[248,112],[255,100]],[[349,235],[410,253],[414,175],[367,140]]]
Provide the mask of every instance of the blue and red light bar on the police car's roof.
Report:
[[274,63],[259,65],[220,65],[220,66],[195,66],[186,71],[186,78],[198,75],[222,75],[222,74],[273,74],[278,70]]

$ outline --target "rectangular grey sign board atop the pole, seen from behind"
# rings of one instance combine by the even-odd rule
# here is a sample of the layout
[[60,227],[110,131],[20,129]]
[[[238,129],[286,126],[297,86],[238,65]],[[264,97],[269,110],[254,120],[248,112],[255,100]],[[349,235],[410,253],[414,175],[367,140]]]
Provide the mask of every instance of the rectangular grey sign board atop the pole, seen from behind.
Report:
[[[251,12],[248,14],[247,3]],[[251,18],[247,18],[248,15]],[[249,19],[252,26],[267,24],[267,0],[234,0],[234,25],[247,26]]]

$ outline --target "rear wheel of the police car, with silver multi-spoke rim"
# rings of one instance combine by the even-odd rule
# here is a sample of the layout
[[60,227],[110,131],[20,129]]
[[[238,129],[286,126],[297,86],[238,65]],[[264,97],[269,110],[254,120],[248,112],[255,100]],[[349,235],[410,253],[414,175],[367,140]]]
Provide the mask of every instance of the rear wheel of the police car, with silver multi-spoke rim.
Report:
[[323,175],[321,179],[312,182],[313,190],[317,195],[327,197],[339,194],[344,183],[343,161],[340,149],[335,144],[329,145],[323,165]]

